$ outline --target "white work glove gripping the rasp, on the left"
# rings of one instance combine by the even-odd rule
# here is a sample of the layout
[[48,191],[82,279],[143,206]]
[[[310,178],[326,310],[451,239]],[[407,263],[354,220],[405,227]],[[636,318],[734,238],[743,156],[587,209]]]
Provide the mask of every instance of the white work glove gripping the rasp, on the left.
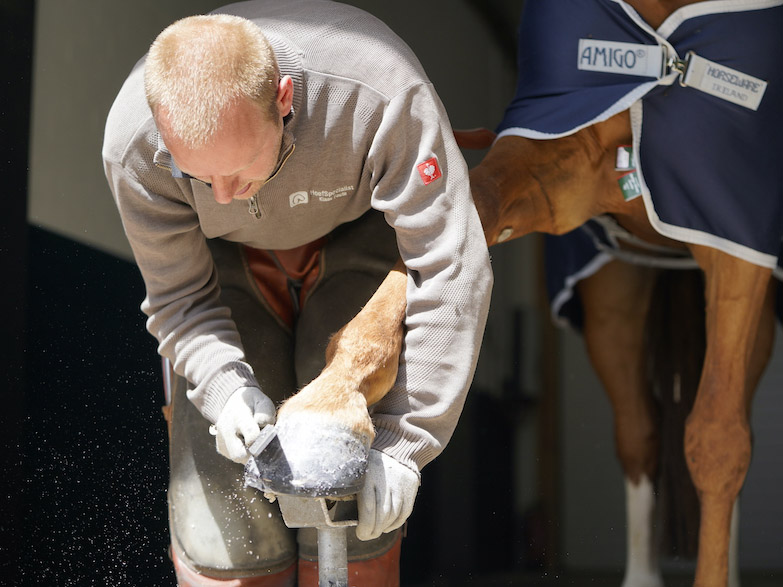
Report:
[[227,459],[244,465],[250,458],[245,447],[253,444],[261,434],[261,428],[274,423],[275,404],[272,400],[257,387],[241,387],[228,398],[215,422],[217,451]]

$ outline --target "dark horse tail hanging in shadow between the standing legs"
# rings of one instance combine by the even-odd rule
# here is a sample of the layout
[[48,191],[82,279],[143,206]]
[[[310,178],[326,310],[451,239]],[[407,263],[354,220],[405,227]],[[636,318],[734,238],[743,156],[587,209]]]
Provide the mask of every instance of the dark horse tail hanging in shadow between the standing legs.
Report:
[[647,323],[649,378],[660,405],[658,494],[662,543],[670,554],[695,558],[699,499],[685,462],[685,420],[696,399],[706,348],[704,276],[661,271]]

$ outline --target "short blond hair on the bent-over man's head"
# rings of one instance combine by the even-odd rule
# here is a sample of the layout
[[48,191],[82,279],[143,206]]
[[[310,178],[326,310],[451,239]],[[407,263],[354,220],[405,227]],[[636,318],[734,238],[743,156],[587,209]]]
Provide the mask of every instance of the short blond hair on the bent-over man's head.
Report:
[[191,16],[167,27],[150,47],[144,89],[153,115],[190,147],[209,142],[227,107],[243,98],[277,116],[280,70],[261,30],[227,14]]

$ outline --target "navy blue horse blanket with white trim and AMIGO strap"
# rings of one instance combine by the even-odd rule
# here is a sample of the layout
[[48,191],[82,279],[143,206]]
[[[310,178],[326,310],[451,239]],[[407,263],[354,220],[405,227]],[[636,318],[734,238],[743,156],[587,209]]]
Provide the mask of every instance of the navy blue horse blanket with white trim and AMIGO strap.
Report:
[[[554,139],[627,109],[624,192],[644,198],[653,227],[776,268],[783,0],[699,2],[657,30],[623,0],[526,0],[517,91],[498,136]],[[547,239],[553,314],[579,326],[573,286],[616,243],[598,222]]]

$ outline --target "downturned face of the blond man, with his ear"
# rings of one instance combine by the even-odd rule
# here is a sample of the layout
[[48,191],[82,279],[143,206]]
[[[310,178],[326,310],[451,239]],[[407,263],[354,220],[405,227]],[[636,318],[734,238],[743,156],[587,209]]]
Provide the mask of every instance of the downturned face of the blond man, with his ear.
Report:
[[[286,88],[290,90],[290,86]],[[211,184],[216,202],[230,204],[235,199],[252,197],[274,172],[283,138],[283,116],[290,109],[290,100],[283,96],[278,99],[280,116],[271,120],[256,103],[237,102],[226,112],[210,142],[197,149],[187,147],[167,132],[165,114],[158,116],[157,121],[177,167]]]

